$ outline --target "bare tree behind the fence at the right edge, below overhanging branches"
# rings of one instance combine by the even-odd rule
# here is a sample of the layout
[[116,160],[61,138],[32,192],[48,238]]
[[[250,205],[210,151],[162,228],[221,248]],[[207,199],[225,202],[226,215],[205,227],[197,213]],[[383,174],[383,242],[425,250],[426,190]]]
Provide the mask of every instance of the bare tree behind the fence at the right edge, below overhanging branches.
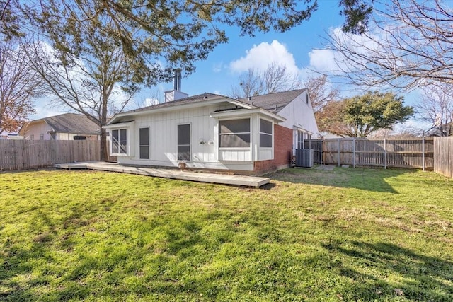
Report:
[[453,131],[453,93],[452,85],[436,83],[423,87],[423,96],[415,105],[418,119],[431,124],[439,130],[441,137]]

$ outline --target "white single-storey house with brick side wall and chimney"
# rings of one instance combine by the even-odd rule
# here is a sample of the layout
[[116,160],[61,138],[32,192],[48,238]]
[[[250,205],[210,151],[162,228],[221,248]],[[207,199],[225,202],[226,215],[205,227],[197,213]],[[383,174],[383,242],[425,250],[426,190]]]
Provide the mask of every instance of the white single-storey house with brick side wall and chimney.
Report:
[[107,123],[118,163],[261,174],[288,167],[301,141],[318,132],[306,89],[234,100],[176,88],[165,100]]

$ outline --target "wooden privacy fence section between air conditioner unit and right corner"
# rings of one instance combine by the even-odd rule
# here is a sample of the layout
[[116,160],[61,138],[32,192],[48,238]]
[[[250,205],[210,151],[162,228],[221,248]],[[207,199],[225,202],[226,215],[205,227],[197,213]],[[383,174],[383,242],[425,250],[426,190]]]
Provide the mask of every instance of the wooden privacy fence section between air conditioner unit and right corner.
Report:
[[434,139],[311,139],[304,147],[314,149],[314,162],[398,168],[434,168]]

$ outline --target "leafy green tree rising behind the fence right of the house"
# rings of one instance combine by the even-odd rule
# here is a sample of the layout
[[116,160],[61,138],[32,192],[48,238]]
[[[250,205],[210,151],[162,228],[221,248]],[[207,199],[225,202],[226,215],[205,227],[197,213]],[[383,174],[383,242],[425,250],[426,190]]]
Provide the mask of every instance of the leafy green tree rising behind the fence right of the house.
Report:
[[329,103],[319,128],[341,137],[367,137],[379,129],[391,129],[413,114],[413,108],[403,105],[403,97],[374,91]]

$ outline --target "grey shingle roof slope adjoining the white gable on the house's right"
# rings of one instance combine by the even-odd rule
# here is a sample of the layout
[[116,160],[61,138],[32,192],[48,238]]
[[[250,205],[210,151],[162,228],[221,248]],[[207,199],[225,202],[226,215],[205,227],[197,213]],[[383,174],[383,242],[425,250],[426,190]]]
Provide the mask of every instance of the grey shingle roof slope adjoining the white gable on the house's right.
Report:
[[278,113],[280,112],[280,110],[285,108],[286,105],[291,103],[294,98],[297,98],[297,96],[304,91],[306,91],[306,88],[293,91],[256,95],[252,96],[250,100],[248,100],[248,98],[240,98],[239,100],[243,103],[248,103],[273,113]]

